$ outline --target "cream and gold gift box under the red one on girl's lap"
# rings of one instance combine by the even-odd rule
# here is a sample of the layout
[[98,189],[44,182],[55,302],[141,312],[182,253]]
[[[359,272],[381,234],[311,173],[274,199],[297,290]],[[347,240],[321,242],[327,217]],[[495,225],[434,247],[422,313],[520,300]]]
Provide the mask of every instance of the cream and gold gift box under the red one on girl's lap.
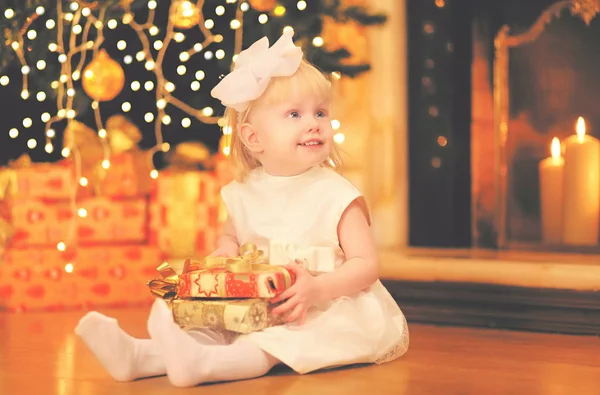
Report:
[[170,305],[175,322],[185,329],[251,333],[285,322],[272,314],[274,306],[264,299],[174,299]]

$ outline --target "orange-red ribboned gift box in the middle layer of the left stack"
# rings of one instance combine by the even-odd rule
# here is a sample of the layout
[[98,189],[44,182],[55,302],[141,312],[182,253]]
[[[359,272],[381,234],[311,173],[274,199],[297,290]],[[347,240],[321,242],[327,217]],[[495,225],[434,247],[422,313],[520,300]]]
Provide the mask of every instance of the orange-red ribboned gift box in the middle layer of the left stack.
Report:
[[14,230],[14,248],[56,246],[68,239],[73,225],[79,245],[147,240],[148,203],[143,198],[80,199],[76,212],[68,202],[21,199],[5,202],[4,211]]

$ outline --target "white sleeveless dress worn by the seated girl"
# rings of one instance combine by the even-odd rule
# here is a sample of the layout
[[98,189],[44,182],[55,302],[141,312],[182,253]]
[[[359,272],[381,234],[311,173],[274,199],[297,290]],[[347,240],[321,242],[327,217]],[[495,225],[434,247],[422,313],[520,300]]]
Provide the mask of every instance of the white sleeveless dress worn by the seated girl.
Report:
[[[315,166],[291,177],[262,167],[221,196],[239,243],[254,243],[271,264],[295,259],[313,275],[344,262],[337,227],[360,192],[334,170]],[[240,335],[298,373],[356,363],[383,363],[408,349],[406,319],[377,281],[368,290],[309,309],[303,325],[288,324]]]

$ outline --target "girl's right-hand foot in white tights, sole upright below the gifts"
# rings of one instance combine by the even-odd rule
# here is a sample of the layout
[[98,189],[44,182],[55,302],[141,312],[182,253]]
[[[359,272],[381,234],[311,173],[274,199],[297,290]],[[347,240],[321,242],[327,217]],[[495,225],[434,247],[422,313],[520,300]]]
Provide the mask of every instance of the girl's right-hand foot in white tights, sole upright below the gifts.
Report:
[[205,372],[202,355],[207,346],[199,344],[173,322],[171,309],[162,299],[156,299],[152,305],[148,332],[160,347],[167,376],[173,385],[190,387],[204,381],[208,372]]

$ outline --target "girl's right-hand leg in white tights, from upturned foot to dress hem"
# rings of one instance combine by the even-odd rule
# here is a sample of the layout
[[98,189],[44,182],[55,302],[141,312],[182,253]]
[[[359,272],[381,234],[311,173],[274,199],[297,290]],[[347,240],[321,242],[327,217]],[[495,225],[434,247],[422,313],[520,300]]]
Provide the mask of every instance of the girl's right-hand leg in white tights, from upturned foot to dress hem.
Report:
[[160,299],[152,306],[148,331],[163,353],[169,380],[178,387],[259,377],[279,362],[252,343],[197,343],[173,322],[169,307]]

